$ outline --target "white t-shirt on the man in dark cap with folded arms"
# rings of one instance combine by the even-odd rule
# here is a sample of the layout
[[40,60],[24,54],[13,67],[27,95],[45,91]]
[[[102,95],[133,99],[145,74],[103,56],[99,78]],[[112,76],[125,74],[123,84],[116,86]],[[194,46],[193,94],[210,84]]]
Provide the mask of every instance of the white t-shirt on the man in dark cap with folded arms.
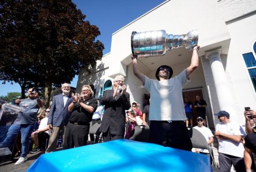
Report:
[[[229,122],[229,123],[218,123],[216,125],[216,131],[223,132],[224,134],[228,135],[241,135],[243,136],[242,127],[239,126],[236,122]],[[220,138],[219,140],[219,153],[233,155],[235,157],[243,158],[243,143],[234,142],[229,139]]]

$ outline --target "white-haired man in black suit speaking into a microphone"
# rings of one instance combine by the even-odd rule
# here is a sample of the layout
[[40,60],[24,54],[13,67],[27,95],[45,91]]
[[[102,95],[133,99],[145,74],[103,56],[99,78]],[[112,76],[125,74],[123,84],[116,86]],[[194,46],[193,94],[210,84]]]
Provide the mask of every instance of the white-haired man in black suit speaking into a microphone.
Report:
[[125,110],[129,110],[130,95],[123,85],[124,77],[118,75],[114,79],[113,89],[106,90],[100,99],[100,104],[105,105],[101,121],[100,132],[103,132],[104,142],[123,139],[125,135]]

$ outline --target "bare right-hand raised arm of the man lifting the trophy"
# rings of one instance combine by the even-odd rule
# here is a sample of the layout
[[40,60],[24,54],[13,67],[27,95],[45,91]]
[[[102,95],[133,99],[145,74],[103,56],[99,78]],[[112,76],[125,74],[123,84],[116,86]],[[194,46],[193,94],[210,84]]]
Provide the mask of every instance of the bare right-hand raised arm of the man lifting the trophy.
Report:
[[191,57],[191,63],[190,66],[186,68],[186,76],[187,79],[190,78],[191,74],[197,69],[199,65],[199,59],[198,59],[198,54],[197,51],[199,50],[199,46],[194,46],[192,50],[192,57]]

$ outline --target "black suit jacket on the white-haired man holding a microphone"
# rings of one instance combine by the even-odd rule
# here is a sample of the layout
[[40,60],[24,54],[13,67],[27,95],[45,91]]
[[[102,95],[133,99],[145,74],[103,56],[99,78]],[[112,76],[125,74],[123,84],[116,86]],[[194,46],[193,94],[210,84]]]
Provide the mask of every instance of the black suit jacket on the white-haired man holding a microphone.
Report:
[[114,99],[113,93],[113,89],[106,90],[100,99],[100,104],[105,105],[100,131],[107,132],[109,127],[111,134],[125,135],[125,110],[129,110],[131,107],[130,95],[125,92],[125,94],[118,95]]

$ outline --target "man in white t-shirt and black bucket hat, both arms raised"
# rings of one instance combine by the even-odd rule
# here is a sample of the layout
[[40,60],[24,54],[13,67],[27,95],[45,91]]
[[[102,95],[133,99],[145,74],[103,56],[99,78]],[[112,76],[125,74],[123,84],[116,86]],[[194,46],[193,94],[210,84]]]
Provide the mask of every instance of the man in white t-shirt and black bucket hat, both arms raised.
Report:
[[172,68],[162,65],[156,70],[156,79],[149,79],[138,71],[137,57],[133,60],[133,73],[150,93],[149,142],[191,151],[192,143],[185,124],[186,114],[182,87],[199,65],[199,46],[192,50],[191,63],[178,76],[172,77]]

